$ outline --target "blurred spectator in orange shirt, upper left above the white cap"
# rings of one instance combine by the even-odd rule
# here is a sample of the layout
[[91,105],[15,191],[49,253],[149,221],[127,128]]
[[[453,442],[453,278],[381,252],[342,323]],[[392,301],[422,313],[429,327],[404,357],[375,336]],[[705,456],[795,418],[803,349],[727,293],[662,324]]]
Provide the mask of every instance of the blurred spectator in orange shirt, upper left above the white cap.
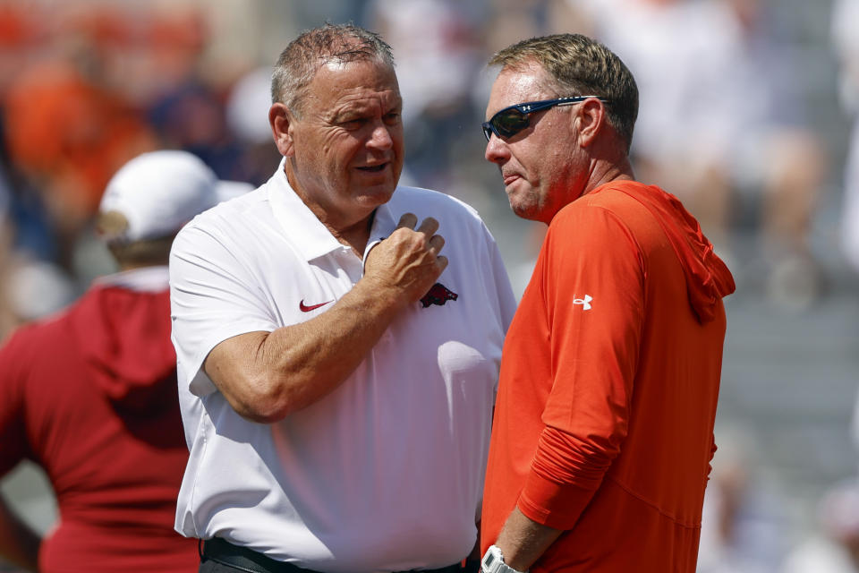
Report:
[[[71,58],[32,65],[6,92],[3,110],[10,158],[39,193],[61,249],[95,213],[110,175],[154,145],[140,116],[80,65]],[[67,266],[70,252],[59,255]]]

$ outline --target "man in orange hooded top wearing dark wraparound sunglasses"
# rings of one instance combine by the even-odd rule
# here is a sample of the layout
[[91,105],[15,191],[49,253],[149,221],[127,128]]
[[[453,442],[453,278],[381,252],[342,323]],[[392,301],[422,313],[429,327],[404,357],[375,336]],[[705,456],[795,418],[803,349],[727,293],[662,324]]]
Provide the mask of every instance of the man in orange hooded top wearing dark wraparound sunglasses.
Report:
[[692,573],[734,280],[627,157],[634,78],[578,34],[493,56],[486,158],[549,225],[507,333],[483,501],[487,573]]

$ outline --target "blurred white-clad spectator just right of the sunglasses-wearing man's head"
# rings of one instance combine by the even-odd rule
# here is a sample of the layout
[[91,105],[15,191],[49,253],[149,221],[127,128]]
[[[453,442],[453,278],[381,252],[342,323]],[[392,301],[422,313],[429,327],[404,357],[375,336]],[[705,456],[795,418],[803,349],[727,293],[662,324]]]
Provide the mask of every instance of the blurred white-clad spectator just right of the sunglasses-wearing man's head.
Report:
[[741,51],[723,4],[569,0],[586,30],[617,47],[642,93],[635,170],[673,190],[717,247],[726,245],[727,151]]

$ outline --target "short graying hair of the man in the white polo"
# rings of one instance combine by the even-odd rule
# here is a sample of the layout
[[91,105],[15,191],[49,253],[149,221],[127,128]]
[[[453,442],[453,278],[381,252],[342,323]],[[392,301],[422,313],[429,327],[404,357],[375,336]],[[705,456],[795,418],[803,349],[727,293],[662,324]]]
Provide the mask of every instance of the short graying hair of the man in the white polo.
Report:
[[373,61],[394,67],[391,47],[375,32],[353,23],[330,24],[305,30],[280,53],[271,76],[271,101],[300,113],[302,96],[325,64]]

